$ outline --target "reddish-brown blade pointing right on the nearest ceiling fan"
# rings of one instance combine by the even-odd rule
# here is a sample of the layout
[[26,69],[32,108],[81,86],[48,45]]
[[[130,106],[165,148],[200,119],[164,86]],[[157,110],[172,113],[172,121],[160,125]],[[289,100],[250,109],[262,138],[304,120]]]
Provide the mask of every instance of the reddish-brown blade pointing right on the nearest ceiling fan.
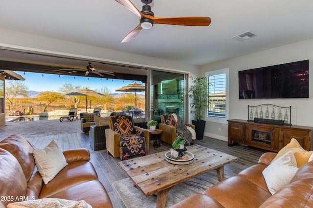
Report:
[[143,17],[153,20],[155,24],[172,24],[185,26],[209,26],[211,18],[209,17],[172,17],[172,18],[157,18],[151,15],[144,15]]

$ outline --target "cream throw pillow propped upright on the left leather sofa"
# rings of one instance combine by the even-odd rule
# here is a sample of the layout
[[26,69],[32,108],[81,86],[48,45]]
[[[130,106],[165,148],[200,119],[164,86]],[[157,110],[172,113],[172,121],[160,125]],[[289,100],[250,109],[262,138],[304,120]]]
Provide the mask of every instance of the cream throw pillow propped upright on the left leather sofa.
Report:
[[43,150],[34,150],[33,155],[37,170],[47,184],[60,170],[67,166],[64,154],[55,141],[51,141]]

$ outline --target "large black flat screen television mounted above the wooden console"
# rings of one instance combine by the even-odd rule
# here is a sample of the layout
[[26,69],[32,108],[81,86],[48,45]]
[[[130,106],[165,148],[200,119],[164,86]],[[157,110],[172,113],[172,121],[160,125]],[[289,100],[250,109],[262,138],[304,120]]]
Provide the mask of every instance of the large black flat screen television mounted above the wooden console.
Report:
[[309,60],[239,71],[239,99],[308,98]]

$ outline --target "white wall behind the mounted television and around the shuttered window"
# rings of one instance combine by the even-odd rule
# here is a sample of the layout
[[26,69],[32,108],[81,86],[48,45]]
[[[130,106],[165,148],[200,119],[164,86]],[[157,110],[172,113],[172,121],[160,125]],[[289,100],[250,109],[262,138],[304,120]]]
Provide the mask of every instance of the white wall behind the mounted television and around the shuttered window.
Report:
[[[249,40],[246,40],[249,41]],[[238,98],[238,71],[309,59],[309,98],[253,99]],[[229,68],[229,119],[248,119],[248,105],[274,104],[291,106],[292,125],[313,127],[313,39],[235,57],[201,67],[205,72]],[[218,129],[221,128],[222,132]],[[227,140],[227,124],[206,122],[205,135]]]

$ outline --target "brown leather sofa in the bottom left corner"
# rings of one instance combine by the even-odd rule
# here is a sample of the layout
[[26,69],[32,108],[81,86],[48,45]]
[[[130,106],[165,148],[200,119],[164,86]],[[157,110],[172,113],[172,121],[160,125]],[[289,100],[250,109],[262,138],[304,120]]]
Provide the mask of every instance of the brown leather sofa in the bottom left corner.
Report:
[[88,150],[63,151],[68,165],[45,185],[35,166],[34,149],[19,135],[11,135],[0,142],[0,207],[41,198],[85,200],[92,208],[113,207],[89,162]]

